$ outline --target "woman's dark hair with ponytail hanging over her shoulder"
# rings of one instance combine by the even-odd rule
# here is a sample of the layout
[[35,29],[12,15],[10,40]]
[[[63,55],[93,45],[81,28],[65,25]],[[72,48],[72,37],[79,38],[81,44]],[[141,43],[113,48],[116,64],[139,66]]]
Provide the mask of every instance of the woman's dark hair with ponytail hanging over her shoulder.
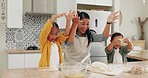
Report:
[[[90,19],[89,15],[86,12],[79,12],[78,11],[78,17],[80,18],[80,20]],[[77,31],[78,31],[78,29],[77,29]],[[86,34],[87,38],[88,38],[88,44],[87,44],[87,47],[88,47],[90,42],[92,42],[92,40],[93,40],[93,37],[92,37],[92,34],[91,34],[89,28],[86,30],[86,32],[84,34]]]

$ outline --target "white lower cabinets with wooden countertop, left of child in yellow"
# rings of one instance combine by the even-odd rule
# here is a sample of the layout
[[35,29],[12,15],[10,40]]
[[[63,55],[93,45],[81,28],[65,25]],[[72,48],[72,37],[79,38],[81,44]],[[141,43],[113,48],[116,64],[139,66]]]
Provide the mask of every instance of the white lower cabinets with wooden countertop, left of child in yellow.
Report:
[[6,50],[8,69],[38,67],[40,50]]

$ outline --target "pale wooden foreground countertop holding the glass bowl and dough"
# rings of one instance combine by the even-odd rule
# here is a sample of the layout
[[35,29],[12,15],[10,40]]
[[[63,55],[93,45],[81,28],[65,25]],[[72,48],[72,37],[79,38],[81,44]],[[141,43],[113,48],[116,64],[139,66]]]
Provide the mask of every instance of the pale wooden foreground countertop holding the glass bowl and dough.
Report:
[[[117,64],[111,64],[113,67]],[[127,62],[126,64],[121,64],[121,72],[115,76],[108,76],[99,73],[92,73],[87,78],[148,78],[148,73],[143,73],[142,75],[133,75],[131,73],[122,72],[122,68],[125,66],[147,66],[148,61],[142,62]],[[47,69],[47,70],[46,70]],[[118,71],[119,72],[119,71]],[[2,78],[64,78],[61,71],[51,72],[49,68],[21,68],[21,69],[9,69],[3,72]]]

